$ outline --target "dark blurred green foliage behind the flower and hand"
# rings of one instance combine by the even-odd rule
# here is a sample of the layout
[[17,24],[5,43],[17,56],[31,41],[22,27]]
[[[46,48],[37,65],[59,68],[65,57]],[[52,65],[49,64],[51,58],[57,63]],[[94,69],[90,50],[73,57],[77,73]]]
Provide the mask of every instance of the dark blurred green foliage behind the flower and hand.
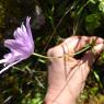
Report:
[[[3,41],[13,36],[27,15],[32,16],[35,51],[43,55],[71,35],[104,38],[104,0],[0,0],[0,58],[9,51]],[[46,60],[32,56],[0,74],[0,104],[42,104],[46,69]],[[94,63],[78,104],[103,104],[103,94],[104,53]]]

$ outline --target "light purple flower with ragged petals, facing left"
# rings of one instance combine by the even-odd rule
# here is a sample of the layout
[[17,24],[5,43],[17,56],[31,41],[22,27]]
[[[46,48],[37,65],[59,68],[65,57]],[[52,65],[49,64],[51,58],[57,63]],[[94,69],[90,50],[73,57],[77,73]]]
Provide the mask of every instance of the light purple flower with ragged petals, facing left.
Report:
[[4,63],[0,73],[12,67],[13,65],[28,58],[34,53],[34,41],[32,37],[31,18],[26,18],[26,26],[22,23],[21,27],[18,27],[14,33],[14,39],[4,41],[4,46],[10,49],[9,54],[4,55],[4,58],[0,60],[0,63]]

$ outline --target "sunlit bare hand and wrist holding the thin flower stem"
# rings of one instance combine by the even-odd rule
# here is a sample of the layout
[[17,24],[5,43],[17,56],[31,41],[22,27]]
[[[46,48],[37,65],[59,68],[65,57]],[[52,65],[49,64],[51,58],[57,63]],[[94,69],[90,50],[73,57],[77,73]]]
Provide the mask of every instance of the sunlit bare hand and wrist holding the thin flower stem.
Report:
[[[93,39],[95,45],[92,50],[85,51],[80,59],[73,58],[74,53]],[[48,50],[47,56],[56,58],[49,59],[48,89],[44,104],[76,104],[93,62],[104,48],[103,42],[94,36],[71,36]]]

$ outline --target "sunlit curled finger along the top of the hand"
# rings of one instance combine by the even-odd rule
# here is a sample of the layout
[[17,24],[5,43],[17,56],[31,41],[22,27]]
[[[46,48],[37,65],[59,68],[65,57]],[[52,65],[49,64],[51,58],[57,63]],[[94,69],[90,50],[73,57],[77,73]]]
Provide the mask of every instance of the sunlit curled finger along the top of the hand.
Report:
[[90,44],[101,44],[103,43],[103,38],[96,36],[72,36],[67,38],[63,43],[65,51],[70,55],[74,56],[76,53],[80,51],[83,47]]

